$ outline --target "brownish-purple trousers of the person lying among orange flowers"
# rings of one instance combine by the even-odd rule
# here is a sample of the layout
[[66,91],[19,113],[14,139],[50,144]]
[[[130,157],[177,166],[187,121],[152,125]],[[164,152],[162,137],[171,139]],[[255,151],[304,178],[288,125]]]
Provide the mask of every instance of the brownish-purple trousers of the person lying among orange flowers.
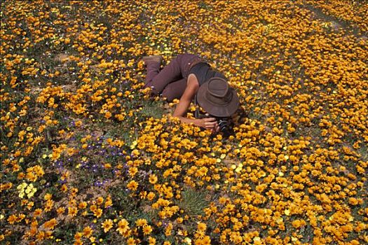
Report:
[[146,85],[152,88],[152,94],[161,94],[172,102],[173,99],[182,97],[186,88],[186,80],[189,76],[189,69],[192,64],[200,61],[200,57],[191,54],[177,55],[175,59],[163,67],[160,71],[158,62],[148,62],[146,64]]

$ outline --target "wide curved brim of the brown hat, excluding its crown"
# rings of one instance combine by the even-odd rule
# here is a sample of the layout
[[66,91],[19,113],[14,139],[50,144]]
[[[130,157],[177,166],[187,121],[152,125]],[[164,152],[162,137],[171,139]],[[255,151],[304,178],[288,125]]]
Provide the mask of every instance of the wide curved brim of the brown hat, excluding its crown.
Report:
[[231,101],[224,105],[213,104],[205,99],[205,92],[207,91],[208,81],[201,85],[197,91],[197,102],[207,113],[217,117],[229,117],[238,110],[240,106],[239,97],[232,87],[229,91],[232,93]]

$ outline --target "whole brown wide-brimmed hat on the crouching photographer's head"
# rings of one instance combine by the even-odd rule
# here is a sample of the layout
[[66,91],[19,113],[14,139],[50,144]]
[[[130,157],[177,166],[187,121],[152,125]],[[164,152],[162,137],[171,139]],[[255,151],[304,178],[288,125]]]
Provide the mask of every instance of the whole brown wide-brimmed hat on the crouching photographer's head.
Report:
[[212,116],[229,117],[240,105],[238,94],[224,78],[210,78],[196,95],[199,106]]

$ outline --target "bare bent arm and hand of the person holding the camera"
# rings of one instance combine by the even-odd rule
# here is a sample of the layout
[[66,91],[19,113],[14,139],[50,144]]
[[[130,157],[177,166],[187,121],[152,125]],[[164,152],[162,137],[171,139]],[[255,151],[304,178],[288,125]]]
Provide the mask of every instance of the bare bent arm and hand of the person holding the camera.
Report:
[[198,127],[218,131],[216,118],[191,119],[184,117],[191,104],[191,100],[194,98],[198,90],[198,87],[199,85],[196,77],[189,76],[184,94],[180,98],[179,104],[177,104],[172,116],[179,118],[182,123],[193,123]]

